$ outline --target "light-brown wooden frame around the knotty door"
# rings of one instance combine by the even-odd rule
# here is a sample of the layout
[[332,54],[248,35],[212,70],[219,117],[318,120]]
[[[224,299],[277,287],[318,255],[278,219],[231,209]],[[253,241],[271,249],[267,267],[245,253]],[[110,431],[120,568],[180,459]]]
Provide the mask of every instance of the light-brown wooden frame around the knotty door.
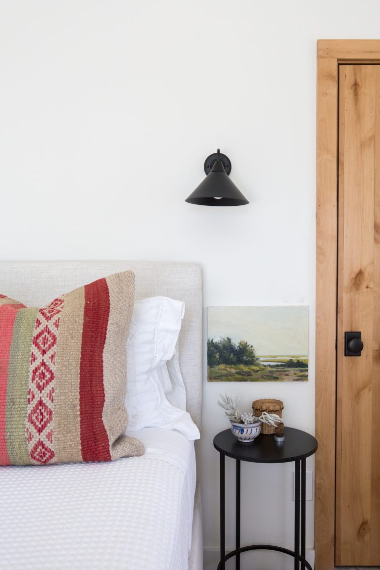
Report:
[[380,63],[380,40],[317,42],[315,570],[334,569],[338,66]]

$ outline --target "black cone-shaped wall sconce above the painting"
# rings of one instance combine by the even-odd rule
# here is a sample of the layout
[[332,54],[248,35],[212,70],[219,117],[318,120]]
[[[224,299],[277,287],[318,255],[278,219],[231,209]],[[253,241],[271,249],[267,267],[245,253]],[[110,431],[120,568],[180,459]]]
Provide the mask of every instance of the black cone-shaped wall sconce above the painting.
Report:
[[205,161],[205,180],[186,198],[189,204],[201,206],[243,206],[248,200],[228,178],[231,161],[225,154],[210,154]]

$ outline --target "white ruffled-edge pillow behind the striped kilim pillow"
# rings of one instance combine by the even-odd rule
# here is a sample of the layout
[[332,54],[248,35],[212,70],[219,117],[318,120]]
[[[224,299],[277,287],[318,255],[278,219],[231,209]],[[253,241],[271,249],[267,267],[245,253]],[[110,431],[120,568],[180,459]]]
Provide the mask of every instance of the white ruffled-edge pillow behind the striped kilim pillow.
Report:
[[198,439],[186,412],[186,389],[179,369],[178,335],[185,303],[168,297],[134,302],[127,349],[125,406],[127,431],[162,427]]

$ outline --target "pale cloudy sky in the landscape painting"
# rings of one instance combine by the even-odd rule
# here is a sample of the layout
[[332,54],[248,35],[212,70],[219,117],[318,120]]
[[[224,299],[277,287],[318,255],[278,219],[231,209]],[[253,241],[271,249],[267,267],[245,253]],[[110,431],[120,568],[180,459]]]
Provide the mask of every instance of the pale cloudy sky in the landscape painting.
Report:
[[257,356],[308,356],[308,307],[209,307],[207,321],[209,338],[246,340]]

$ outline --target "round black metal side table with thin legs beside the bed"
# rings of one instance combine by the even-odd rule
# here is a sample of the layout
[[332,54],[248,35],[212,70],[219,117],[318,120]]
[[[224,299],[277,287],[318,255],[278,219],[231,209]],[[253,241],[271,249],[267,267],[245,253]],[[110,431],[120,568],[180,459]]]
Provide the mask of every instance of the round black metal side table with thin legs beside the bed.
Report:
[[[214,447],[220,453],[220,562],[218,570],[225,570],[226,560],[236,557],[236,570],[240,570],[240,553],[248,550],[275,550],[294,556],[295,570],[312,570],[305,559],[306,538],[306,458],[317,451],[318,442],[312,435],[285,427],[285,441],[276,442],[273,435],[260,434],[255,441],[242,443],[236,439],[230,429],[220,431],[214,437]],[[224,502],[224,457],[236,459],[236,548],[226,555],[226,512]],[[240,547],[240,461],[253,463],[287,463],[295,462],[295,540],[294,551],[271,544],[252,544]],[[301,473],[301,501],[300,501]],[[301,505],[301,519],[300,519]],[[300,549],[301,530],[301,549]]]

